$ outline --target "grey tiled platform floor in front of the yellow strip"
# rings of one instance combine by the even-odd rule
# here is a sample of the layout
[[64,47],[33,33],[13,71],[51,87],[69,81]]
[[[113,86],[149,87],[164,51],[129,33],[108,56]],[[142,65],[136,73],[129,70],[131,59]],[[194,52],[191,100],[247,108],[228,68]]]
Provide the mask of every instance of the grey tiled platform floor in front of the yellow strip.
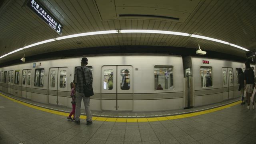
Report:
[[224,110],[158,122],[80,125],[0,96],[0,144],[256,144],[256,110]]

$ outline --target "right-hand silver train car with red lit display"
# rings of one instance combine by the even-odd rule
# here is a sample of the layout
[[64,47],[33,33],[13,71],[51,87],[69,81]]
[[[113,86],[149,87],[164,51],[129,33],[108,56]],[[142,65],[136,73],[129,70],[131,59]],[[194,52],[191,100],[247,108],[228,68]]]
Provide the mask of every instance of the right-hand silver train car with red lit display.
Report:
[[183,62],[187,82],[185,107],[240,97],[238,68],[245,70],[244,63],[193,56],[185,57]]

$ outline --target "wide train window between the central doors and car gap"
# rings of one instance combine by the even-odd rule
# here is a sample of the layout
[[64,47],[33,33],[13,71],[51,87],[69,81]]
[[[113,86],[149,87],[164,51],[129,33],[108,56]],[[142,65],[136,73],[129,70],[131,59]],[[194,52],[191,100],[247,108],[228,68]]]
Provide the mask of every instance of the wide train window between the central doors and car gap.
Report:
[[173,90],[173,66],[154,66],[155,90]]

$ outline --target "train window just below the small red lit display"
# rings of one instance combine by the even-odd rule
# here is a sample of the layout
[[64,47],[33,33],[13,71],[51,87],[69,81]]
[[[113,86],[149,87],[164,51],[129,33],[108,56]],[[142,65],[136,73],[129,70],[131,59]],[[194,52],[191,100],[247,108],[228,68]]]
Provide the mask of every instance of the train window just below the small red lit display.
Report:
[[200,74],[202,88],[212,86],[212,67],[201,66]]

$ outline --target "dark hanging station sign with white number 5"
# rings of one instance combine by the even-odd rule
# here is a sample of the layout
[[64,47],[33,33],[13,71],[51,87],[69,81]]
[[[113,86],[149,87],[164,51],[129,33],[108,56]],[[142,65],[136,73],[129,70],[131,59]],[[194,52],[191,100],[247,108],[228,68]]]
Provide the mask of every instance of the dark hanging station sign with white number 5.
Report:
[[38,1],[28,0],[27,6],[33,10],[44,22],[46,22],[53,30],[62,34],[63,26],[57,21]]

